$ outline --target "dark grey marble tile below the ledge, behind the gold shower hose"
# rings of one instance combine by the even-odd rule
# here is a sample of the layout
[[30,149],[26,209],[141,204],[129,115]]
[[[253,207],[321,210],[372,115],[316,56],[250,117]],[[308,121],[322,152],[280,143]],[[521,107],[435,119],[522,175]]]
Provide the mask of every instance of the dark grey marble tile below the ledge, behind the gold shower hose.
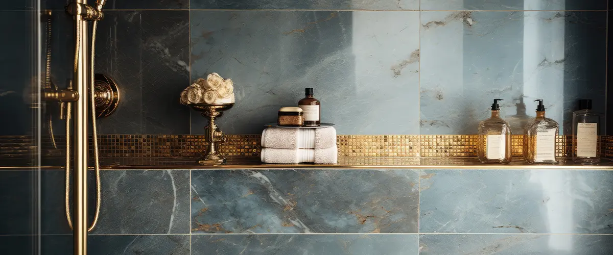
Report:
[[[93,180],[93,174],[90,180]],[[45,171],[44,234],[68,234],[64,171]],[[90,222],[95,183],[89,183]],[[93,234],[189,233],[189,171],[102,171],[102,210]]]

